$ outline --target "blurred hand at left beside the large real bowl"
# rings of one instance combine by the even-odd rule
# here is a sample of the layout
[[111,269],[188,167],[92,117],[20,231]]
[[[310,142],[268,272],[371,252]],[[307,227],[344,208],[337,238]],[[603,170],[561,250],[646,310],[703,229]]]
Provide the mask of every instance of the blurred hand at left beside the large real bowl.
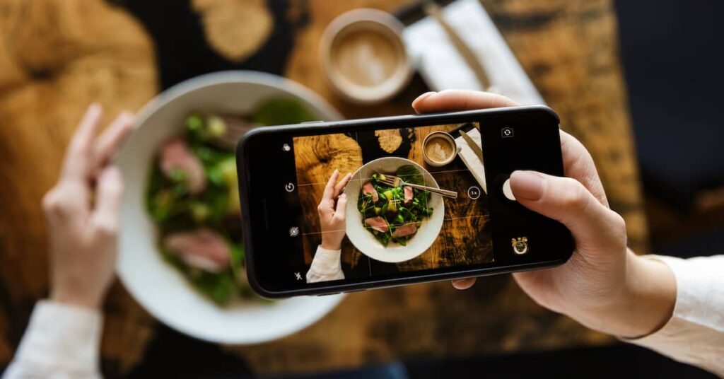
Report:
[[43,197],[49,227],[51,299],[98,308],[113,280],[123,183],[109,159],[133,128],[123,112],[96,138],[101,106],[88,107]]

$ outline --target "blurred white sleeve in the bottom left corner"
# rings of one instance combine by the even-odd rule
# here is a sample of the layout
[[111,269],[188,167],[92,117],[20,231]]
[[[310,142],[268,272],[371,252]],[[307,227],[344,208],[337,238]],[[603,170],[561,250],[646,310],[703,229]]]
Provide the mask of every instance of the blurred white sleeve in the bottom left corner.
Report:
[[96,310],[39,301],[3,379],[101,378],[101,328]]

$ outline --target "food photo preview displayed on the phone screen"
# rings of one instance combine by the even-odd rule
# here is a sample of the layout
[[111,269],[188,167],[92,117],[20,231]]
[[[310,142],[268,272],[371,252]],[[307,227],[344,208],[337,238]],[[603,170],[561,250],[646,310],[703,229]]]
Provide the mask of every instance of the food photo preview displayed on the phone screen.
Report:
[[473,122],[295,137],[298,280],[493,262],[480,136]]

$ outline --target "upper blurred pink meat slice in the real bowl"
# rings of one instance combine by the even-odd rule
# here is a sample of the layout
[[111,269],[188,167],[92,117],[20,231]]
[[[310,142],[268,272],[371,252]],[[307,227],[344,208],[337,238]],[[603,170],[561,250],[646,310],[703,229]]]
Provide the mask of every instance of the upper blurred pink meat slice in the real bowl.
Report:
[[203,165],[181,138],[174,138],[161,147],[161,171],[168,178],[174,178],[180,170],[185,174],[188,191],[201,193],[206,188],[206,174]]

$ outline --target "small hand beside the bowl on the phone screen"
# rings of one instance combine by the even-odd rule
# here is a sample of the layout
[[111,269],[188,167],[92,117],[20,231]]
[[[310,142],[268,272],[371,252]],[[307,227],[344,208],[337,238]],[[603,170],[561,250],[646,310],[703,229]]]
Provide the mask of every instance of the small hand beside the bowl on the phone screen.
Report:
[[[345,207],[347,207],[347,195],[342,193],[345,186],[352,178],[352,174],[345,175],[340,183],[340,171],[334,170],[332,177],[324,187],[317,212],[319,213],[319,226],[321,228],[321,247],[327,250],[342,249],[342,239],[345,238]],[[334,204],[335,200],[337,204]]]

